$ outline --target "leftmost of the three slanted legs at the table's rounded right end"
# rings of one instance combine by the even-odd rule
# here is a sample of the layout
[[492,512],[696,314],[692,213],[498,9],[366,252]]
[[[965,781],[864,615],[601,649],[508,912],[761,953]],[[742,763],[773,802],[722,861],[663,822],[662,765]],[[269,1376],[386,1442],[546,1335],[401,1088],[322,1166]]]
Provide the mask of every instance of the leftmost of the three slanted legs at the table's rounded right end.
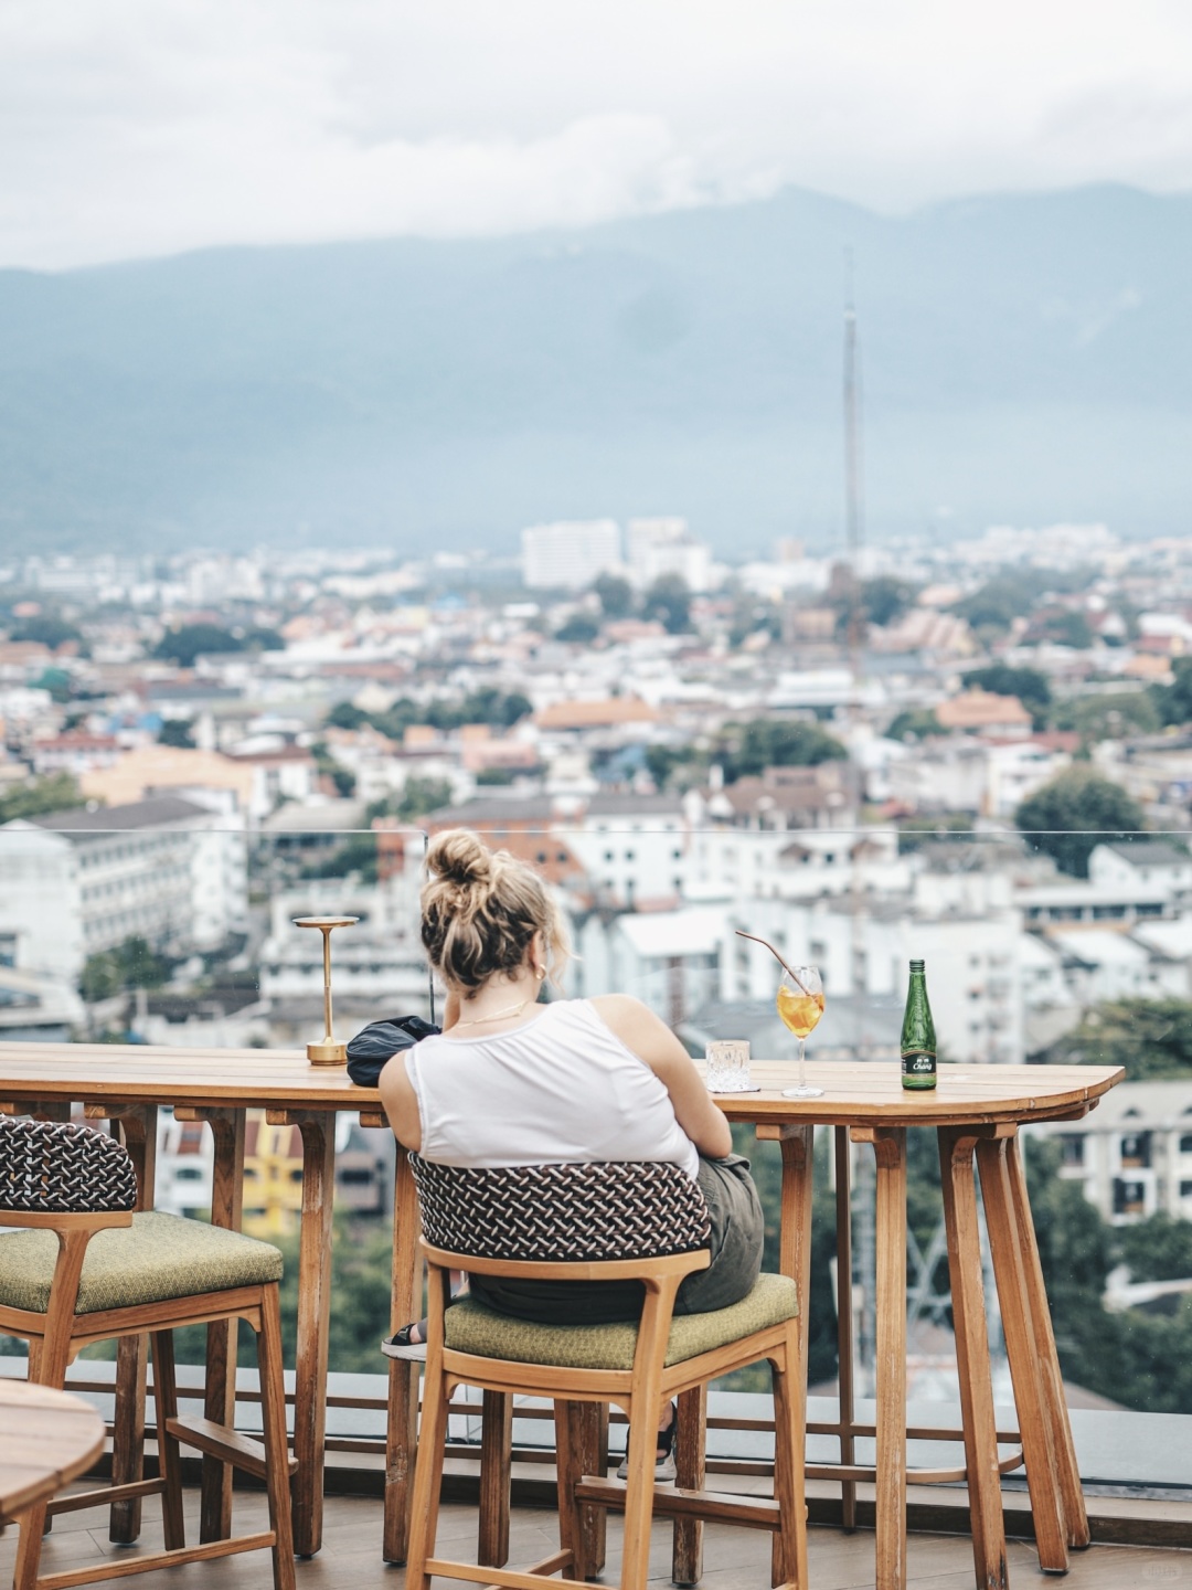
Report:
[[981,1229],[977,1226],[977,1191],[973,1178],[976,1143],[977,1137],[971,1127],[939,1129],[939,1172],[944,1192],[947,1267],[952,1282],[960,1414],[965,1426],[973,1560],[981,1590],[1003,1590],[1008,1584],[1006,1526],[1001,1515],[1001,1474],[993,1421],[985,1289],[981,1282]]

